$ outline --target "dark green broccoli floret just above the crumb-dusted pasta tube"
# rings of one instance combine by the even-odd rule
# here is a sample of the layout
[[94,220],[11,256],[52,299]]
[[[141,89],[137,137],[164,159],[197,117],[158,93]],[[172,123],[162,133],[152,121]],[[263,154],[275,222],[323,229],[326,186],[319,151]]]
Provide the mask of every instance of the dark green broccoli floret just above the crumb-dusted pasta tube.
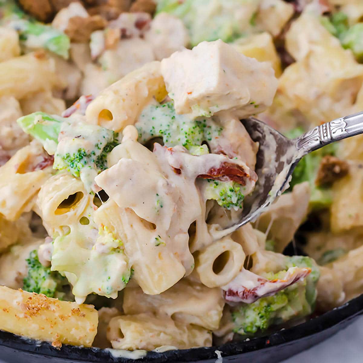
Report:
[[28,276],[23,280],[23,290],[62,300],[63,286],[68,285],[67,279],[58,272],[51,271],[50,267],[44,267],[39,262],[37,250],[30,252],[26,263]]

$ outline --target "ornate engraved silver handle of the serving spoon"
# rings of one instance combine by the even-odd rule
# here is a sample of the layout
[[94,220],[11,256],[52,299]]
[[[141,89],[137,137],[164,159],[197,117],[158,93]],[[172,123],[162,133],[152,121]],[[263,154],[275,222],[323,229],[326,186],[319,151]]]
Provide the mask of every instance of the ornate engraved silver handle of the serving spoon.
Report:
[[359,134],[363,134],[363,112],[337,118],[305,132],[296,139],[296,147],[305,155],[334,141]]

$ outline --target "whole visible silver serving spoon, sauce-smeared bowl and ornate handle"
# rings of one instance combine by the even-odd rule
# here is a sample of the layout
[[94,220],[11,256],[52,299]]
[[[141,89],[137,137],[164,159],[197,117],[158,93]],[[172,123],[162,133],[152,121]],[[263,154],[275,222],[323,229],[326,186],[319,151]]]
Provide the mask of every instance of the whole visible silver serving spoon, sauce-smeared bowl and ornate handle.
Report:
[[332,142],[363,133],[363,112],[323,123],[296,139],[286,138],[253,117],[241,122],[252,140],[260,144],[255,169],[258,180],[252,194],[244,200],[240,220],[220,231],[223,235],[256,220],[288,187],[291,174],[304,155]]

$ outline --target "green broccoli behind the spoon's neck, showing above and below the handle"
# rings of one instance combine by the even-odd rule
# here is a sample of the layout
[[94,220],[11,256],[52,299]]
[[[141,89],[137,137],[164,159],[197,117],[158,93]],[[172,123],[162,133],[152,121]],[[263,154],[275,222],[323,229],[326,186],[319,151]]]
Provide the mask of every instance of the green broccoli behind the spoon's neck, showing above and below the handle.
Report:
[[[297,128],[291,130],[286,134],[286,136],[295,138],[302,133],[303,130],[301,128]],[[311,191],[310,205],[314,209],[329,207],[332,202],[331,189],[329,187],[317,186],[315,184],[315,179],[317,177],[322,158],[326,155],[335,155],[336,148],[336,145],[330,144],[303,156],[293,171],[288,191],[291,191],[294,185],[308,181]]]

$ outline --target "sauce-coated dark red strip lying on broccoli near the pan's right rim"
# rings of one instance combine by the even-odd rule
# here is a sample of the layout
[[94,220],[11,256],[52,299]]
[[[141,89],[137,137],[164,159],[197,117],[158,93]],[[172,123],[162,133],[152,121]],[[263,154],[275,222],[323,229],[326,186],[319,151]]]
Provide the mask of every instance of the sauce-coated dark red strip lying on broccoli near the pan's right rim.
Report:
[[222,286],[223,297],[227,302],[250,304],[261,297],[274,295],[287,286],[303,280],[310,272],[310,268],[290,267],[283,279],[267,280],[249,270],[242,269],[229,284]]

